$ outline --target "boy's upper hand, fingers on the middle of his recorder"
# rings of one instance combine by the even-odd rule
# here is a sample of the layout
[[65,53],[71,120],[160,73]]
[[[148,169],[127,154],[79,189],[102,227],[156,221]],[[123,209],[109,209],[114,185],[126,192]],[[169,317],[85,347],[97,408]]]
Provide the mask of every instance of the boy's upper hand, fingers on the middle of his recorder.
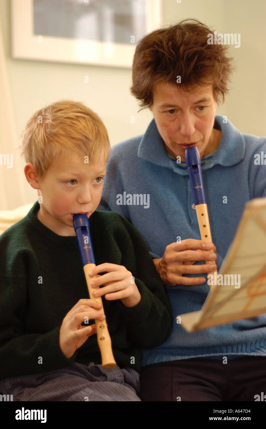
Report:
[[135,307],[135,305],[139,304],[141,294],[130,271],[122,265],[104,263],[97,265],[89,272],[89,275],[92,277],[104,271],[107,271],[107,274],[101,275],[91,283],[92,287],[104,285],[99,290],[93,291],[94,296],[105,295],[107,301],[121,299],[126,307]]

